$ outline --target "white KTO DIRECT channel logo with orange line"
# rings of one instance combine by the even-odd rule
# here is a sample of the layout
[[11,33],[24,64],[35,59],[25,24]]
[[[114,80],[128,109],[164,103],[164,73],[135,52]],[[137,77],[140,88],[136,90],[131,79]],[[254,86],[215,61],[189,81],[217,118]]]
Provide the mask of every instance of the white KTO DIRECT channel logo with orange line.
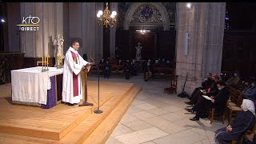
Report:
[[39,22],[40,18],[38,17],[32,17],[31,15],[29,17],[23,17],[22,18],[22,24],[17,25],[21,26],[22,31],[38,31],[39,30]]

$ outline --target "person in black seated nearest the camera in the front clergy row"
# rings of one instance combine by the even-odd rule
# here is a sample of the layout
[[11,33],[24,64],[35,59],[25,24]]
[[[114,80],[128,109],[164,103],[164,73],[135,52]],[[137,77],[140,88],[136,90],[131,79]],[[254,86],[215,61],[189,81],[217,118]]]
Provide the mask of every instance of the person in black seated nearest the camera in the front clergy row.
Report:
[[194,118],[190,118],[191,121],[198,121],[199,118],[204,116],[203,114],[206,113],[207,110],[214,107],[216,113],[223,114],[224,110],[226,109],[226,102],[230,98],[230,90],[226,86],[226,83],[222,80],[219,80],[217,83],[218,86],[218,94],[214,96],[210,96],[211,100],[203,98],[200,102],[198,102],[192,109],[185,109],[189,112],[192,110],[196,111],[196,115]]

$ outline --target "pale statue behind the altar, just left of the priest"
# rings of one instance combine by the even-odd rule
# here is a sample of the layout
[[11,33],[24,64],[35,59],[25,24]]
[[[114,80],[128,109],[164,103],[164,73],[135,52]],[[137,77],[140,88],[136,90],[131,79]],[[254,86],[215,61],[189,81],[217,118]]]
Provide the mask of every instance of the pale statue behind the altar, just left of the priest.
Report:
[[63,47],[64,47],[63,36],[60,36],[60,34],[55,34],[53,46],[54,46],[55,66],[62,65]]

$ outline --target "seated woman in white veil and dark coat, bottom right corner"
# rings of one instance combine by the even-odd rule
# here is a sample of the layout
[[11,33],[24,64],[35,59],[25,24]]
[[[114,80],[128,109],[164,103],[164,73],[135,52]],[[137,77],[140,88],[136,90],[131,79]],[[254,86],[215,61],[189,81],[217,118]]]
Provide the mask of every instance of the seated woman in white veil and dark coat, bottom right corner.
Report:
[[253,129],[255,124],[254,102],[243,99],[241,108],[242,111],[237,114],[232,124],[216,130],[215,141],[217,143],[226,144],[237,141],[247,130]]

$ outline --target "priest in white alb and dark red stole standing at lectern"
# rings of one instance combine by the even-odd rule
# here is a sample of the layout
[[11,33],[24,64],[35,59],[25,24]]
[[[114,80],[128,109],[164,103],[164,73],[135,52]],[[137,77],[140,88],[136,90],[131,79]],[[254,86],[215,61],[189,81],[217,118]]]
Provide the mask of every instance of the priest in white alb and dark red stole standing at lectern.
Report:
[[[62,102],[67,102],[70,106],[80,103],[83,98],[80,72],[86,69],[89,71],[90,66],[93,65],[78,54],[78,49],[79,42],[72,42],[69,50],[66,51],[63,66]],[[93,106],[89,102],[86,102],[86,105]]]

